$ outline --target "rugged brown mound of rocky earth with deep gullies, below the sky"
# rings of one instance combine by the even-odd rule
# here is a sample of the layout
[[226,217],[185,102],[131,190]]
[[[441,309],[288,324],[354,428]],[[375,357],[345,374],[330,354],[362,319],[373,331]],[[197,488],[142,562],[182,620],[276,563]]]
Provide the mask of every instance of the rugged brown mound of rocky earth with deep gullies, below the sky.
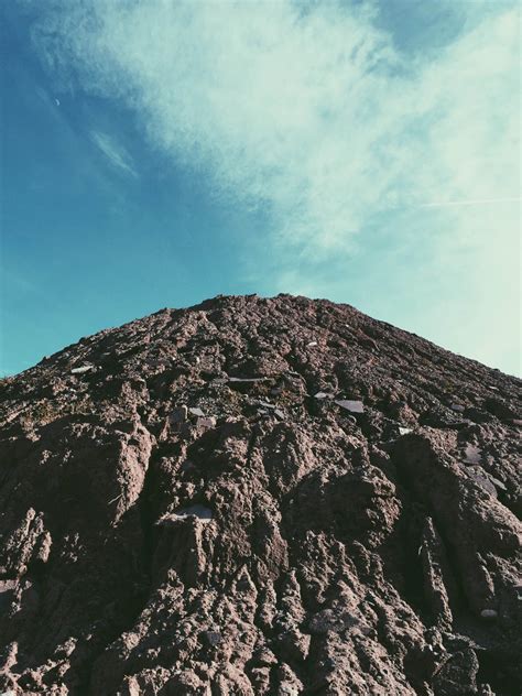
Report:
[[0,692],[520,693],[519,387],[283,295],[3,380]]

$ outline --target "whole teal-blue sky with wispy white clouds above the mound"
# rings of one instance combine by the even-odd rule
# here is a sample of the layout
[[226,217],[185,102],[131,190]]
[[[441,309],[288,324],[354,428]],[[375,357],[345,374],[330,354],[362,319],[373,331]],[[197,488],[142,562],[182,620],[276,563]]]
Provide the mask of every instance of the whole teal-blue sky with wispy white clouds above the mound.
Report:
[[0,374],[217,294],[520,373],[520,6],[0,6]]

